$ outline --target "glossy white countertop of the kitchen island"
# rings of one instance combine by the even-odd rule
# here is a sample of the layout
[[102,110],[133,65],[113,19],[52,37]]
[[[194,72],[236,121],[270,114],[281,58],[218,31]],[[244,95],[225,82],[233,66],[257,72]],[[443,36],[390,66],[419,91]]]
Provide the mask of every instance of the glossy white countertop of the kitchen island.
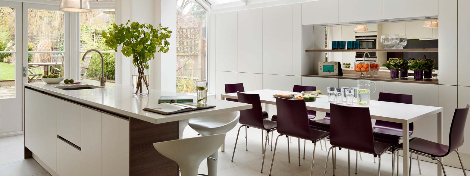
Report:
[[[100,85],[100,83],[95,80],[81,80],[81,84],[89,84],[95,86]],[[46,84],[44,82],[24,83],[24,86],[44,91],[57,97],[69,99],[80,104],[88,105],[92,108],[103,109],[109,112],[116,112],[117,114],[121,114],[122,116],[133,117],[139,120],[145,120],[155,124],[251,109],[251,104],[208,98],[207,104],[215,105],[215,108],[192,112],[183,112],[171,115],[161,115],[154,112],[143,111],[142,109],[147,106],[157,105],[158,98],[160,96],[180,96],[183,94],[151,89],[149,97],[134,98],[132,96],[131,86],[124,86],[121,84],[114,84],[109,82],[106,83],[106,86],[103,86],[104,88],[82,90],[63,90],[55,88],[55,86],[73,85]],[[194,96],[194,98],[196,99],[196,96]]]

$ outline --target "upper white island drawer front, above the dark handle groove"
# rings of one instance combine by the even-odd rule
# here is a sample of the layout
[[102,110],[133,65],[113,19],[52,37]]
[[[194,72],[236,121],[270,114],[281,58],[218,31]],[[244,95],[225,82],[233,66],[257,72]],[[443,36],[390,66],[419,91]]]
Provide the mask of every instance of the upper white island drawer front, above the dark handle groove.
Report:
[[81,147],[80,105],[57,99],[57,135]]

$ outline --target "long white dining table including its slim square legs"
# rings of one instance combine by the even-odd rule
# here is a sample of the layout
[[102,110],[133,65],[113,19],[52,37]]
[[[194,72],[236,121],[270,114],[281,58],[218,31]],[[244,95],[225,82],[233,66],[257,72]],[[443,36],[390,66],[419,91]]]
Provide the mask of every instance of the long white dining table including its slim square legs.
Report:
[[[282,90],[273,90],[273,89],[261,89],[261,90],[252,90],[244,91],[246,94],[259,94],[259,99],[261,103],[265,104],[265,111],[268,111],[269,104],[276,104],[276,99],[274,94],[292,94],[298,95],[298,92],[282,91]],[[224,100],[225,98],[237,99],[237,93],[221,94],[220,98]],[[345,105],[346,103],[344,103]],[[328,96],[319,95],[312,102],[305,102],[307,110],[313,110],[318,112],[330,112],[330,102],[328,101]],[[364,105],[353,104],[352,106],[364,107]],[[437,142],[442,144],[443,142],[443,132],[442,132],[442,107],[434,106],[425,106],[418,104],[401,104],[393,102],[384,102],[384,101],[375,101],[370,100],[370,105],[368,105],[370,111],[370,117],[374,120],[384,120],[401,123],[403,126],[403,158],[409,158],[409,140],[408,136],[409,123],[415,122],[421,119],[433,118],[437,114]],[[323,117],[315,118],[322,119]],[[432,120],[432,119],[429,119]],[[430,127],[431,128],[431,127]],[[441,157],[438,158],[442,160]],[[409,176],[409,160],[403,160],[403,175]],[[442,168],[438,164],[438,176],[442,176]]]

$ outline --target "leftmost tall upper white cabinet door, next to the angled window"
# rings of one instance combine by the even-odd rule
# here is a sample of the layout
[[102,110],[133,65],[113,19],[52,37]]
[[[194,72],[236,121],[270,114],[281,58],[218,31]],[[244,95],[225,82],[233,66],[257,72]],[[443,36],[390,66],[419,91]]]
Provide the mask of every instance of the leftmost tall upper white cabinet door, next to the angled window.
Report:
[[237,12],[216,15],[215,23],[217,71],[237,71]]

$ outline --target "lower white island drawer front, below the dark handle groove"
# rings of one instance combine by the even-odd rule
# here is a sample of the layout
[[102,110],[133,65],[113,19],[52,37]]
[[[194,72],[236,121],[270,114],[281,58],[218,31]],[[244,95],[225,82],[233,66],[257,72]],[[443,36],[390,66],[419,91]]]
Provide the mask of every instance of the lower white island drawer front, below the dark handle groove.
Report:
[[59,176],[82,176],[80,155],[78,148],[57,138],[57,174]]

